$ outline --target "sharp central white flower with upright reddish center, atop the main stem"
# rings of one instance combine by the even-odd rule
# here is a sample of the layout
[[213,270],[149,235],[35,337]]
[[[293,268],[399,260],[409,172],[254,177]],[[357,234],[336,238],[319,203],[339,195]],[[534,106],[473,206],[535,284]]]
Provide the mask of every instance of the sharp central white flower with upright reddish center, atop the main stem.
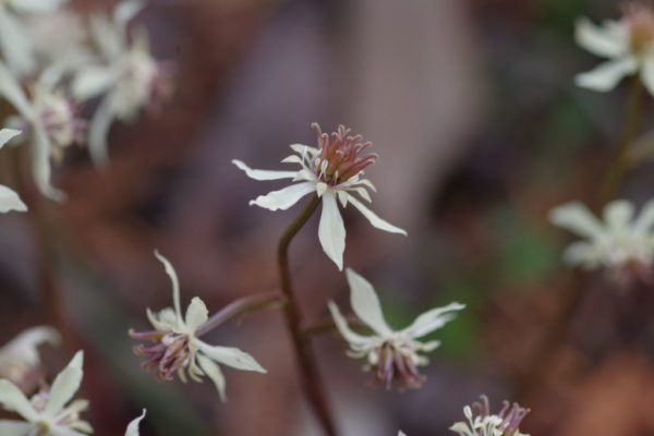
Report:
[[259,195],[250,202],[270,210],[286,210],[302,197],[316,193],[323,199],[323,211],[318,226],[318,239],[323,250],[339,269],[343,268],[343,252],[346,250],[346,227],[338,209],[352,204],[377,229],[391,233],[407,234],[398,227],[390,225],[368,209],[353,193],[371,202],[367,189],[375,190],[370,180],[363,179],[364,168],[373,164],[376,155],[362,156],[361,153],[372,145],[362,143],[361,135],[350,136],[350,130],[339,125],[331,137],[320,131],[318,124],[312,124],[318,133],[318,147],[292,144],[291,155],[282,160],[286,164],[298,164],[298,171],[253,170],[240,160],[232,162],[254,180],[292,179],[301,181],[267,195]]

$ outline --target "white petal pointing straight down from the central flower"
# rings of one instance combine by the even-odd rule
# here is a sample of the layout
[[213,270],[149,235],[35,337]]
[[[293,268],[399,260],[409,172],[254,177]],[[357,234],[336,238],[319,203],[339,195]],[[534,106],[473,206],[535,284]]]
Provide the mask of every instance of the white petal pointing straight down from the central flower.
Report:
[[342,270],[343,252],[346,251],[346,226],[331,191],[323,194],[318,239],[327,256],[338,266],[338,269]]

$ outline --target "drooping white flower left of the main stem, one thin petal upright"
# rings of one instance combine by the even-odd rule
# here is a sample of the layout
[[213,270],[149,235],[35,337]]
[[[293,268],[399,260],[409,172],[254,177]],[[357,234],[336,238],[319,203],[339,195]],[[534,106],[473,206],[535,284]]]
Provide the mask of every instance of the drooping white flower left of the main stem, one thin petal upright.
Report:
[[[150,347],[137,346],[134,352],[144,355],[146,370],[156,368],[161,380],[171,380],[173,374],[186,382],[186,375],[195,382],[202,382],[203,376],[209,377],[216,385],[220,398],[225,401],[225,376],[218,364],[231,366],[241,371],[266,373],[250,354],[230,347],[210,346],[197,337],[198,330],[208,320],[208,311],[204,302],[195,296],[182,316],[180,305],[180,287],[172,264],[155,252],[155,256],[164,264],[166,272],[172,282],[172,304],[159,313],[147,310],[147,318],[155,328],[152,331],[136,332],[130,330],[130,336],[140,340],[152,341]],[[201,330],[203,334],[206,332]]]

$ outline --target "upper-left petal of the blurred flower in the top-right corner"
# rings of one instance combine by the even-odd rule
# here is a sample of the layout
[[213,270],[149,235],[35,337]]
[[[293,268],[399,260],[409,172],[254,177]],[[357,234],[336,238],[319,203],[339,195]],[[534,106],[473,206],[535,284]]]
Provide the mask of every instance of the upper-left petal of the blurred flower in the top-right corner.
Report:
[[580,17],[574,23],[574,40],[593,55],[604,58],[617,58],[628,49],[627,29],[623,36],[614,29],[605,29],[594,25],[589,19]]

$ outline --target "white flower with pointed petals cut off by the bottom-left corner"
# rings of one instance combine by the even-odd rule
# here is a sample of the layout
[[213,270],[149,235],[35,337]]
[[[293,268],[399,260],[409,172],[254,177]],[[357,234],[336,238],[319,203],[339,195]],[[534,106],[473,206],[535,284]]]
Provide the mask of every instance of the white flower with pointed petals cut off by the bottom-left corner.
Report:
[[80,419],[80,413],[88,408],[88,401],[71,401],[82,383],[83,360],[84,354],[78,351],[55,378],[52,387],[32,399],[27,399],[11,382],[0,380],[0,403],[25,420],[0,420],[0,435],[82,436],[93,433],[90,425]]

